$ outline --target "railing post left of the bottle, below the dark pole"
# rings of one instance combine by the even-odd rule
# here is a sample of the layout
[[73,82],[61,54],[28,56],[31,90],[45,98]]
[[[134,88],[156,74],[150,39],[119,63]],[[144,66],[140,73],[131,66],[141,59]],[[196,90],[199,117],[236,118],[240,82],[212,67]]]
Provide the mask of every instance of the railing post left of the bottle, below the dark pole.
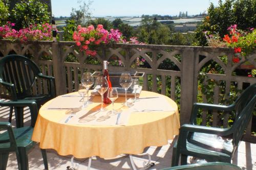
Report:
[[52,43],[53,75],[55,78],[56,95],[66,94],[65,66],[61,58],[58,42]]

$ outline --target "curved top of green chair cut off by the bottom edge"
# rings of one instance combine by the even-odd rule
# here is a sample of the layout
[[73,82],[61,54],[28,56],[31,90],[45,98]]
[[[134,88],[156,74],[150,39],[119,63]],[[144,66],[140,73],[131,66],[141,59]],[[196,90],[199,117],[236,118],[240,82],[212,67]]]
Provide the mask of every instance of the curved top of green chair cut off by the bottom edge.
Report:
[[242,170],[240,167],[231,164],[231,163],[223,163],[223,162],[210,162],[210,163],[196,163],[190,165],[181,165],[181,166],[174,166],[169,168],[164,168],[161,170]]

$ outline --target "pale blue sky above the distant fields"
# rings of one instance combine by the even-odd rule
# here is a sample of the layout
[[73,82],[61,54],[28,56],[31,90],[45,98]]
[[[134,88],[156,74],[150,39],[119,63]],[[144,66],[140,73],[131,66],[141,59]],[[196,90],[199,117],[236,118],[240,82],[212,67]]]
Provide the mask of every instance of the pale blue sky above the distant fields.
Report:
[[[70,16],[72,8],[79,8],[77,0],[51,0],[54,16]],[[94,0],[91,6],[92,16],[141,16],[142,14],[179,15],[180,11],[188,15],[199,14],[215,5],[218,0]]]

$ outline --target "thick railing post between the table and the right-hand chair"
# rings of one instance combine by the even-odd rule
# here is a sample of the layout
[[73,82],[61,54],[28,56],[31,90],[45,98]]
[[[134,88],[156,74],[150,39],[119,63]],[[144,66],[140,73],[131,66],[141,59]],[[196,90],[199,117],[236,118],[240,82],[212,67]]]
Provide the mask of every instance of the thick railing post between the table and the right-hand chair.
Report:
[[184,48],[181,62],[180,124],[183,125],[189,122],[193,107],[195,78],[195,52],[193,48]]

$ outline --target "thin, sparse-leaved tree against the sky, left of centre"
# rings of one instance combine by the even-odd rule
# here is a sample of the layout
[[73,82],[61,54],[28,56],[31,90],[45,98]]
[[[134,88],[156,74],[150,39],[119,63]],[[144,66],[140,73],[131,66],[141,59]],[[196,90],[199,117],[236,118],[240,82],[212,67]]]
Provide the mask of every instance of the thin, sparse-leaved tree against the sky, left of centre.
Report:
[[91,19],[91,5],[93,1],[77,1],[79,9],[72,8],[70,13],[70,20],[74,20],[76,25],[82,25],[84,19]]

